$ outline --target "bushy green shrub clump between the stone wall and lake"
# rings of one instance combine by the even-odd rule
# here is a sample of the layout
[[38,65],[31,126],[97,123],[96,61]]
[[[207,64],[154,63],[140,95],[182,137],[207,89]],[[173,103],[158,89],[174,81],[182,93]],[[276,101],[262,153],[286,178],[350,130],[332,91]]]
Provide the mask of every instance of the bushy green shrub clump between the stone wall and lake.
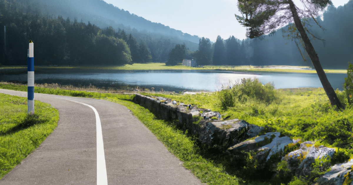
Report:
[[223,86],[218,93],[222,109],[234,107],[236,102],[244,103],[246,101],[260,101],[270,104],[277,99],[275,87],[271,82],[262,85],[257,78],[243,78],[235,82],[233,87]]

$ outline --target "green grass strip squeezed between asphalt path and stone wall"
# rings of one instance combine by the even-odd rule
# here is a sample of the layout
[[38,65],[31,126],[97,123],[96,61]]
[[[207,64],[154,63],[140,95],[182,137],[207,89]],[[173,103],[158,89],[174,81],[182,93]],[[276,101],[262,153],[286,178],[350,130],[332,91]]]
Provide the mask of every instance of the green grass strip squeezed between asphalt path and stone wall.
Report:
[[130,109],[171,153],[184,162],[183,166],[203,183],[209,185],[238,184],[237,177],[227,174],[227,166],[217,164],[220,161],[210,161],[209,158],[205,158],[204,151],[196,146],[195,140],[187,137],[183,131],[178,130],[175,124],[157,119],[149,110],[131,101],[109,98],[107,100]]

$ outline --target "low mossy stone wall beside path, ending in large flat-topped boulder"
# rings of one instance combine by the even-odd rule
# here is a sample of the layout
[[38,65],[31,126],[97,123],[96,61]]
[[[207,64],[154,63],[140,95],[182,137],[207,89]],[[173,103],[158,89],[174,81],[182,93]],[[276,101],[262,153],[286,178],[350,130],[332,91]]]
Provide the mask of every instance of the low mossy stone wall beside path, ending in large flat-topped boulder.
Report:
[[188,133],[196,135],[202,144],[220,149],[227,149],[247,138],[255,137],[263,130],[262,127],[244,120],[221,121],[219,112],[177,103],[162,97],[136,94],[133,102],[149,109],[160,119],[176,120],[175,124],[179,129],[188,130]]

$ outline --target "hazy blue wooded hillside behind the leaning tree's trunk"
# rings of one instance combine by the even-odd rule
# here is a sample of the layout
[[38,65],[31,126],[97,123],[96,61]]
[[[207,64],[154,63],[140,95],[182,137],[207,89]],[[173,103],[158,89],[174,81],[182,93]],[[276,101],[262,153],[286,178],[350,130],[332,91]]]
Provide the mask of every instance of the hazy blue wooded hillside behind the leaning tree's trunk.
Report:
[[[324,68],[346,69],[348,62],[353,62],[353,0],[345,6],[328,7],[322,18],[310,19],[307,29],[314,36],[311,38],[321,65]],[[282,32],[284,30],[285,32]],[[246,49],[251,52],[246,57],[251,65],[293,65],[312,66],[305,49],[299,44],[306,62],[300,55],[297,45],[288,39],[288,26],[276,31],[273,35],[250,40]]]

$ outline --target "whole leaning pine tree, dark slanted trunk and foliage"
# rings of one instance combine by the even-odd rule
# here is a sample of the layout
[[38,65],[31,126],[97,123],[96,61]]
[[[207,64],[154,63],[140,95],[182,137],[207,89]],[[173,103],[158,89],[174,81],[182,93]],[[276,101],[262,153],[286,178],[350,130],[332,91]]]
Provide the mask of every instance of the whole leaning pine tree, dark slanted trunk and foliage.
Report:
[[249,38],[274,32],[294,20],[295,27],[292,26],[292,37],[298,38],[303,43],[331,105],[344,109],[327,79],[307,33],[314,38],[315,36],[303,26],[309,18],[317,23],[315,17],[319,15],[319,11],[323,11],[332,2],[330,0],[300,0],[300,2],[304,5],[303,9],[298,8],[292,0],[238,0],[238,8],[242,16],[235,15],[235,17],[240,24],[247,27],[246,36]]

